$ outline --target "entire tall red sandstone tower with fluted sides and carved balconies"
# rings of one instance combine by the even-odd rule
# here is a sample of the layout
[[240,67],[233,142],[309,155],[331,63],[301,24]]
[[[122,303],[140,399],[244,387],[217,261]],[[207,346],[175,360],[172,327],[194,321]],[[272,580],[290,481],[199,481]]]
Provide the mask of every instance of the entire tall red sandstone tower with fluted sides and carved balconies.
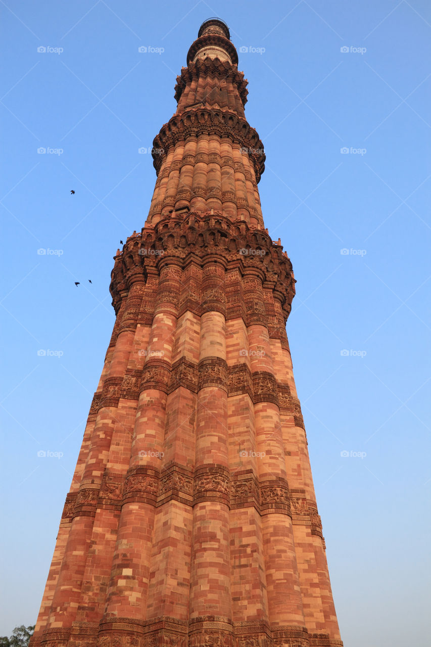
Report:
[[115,256],[32,647],[342,645],[246,86],[208,19],[154,140],[148,219]]

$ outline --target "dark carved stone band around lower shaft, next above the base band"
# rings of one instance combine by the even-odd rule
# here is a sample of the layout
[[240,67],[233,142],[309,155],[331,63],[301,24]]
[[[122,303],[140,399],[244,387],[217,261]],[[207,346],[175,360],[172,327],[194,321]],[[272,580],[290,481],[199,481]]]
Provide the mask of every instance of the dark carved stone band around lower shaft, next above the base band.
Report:
[[62,519],[94,516],[97,508],[120,510],[124,503],[140,502],[159,507],[174,499],[193,506],[202,501],[218,501],[232,509],[255,507],[261,515],[278,512],[292,517],[297,525],[311,526],[322,537],[322,523],[315,501],[305,490],[289,490],[282,477],[259,481],[252,470],[230,476],[222,465],[204,465],[187,470],[171,465],[160,474],[148,466],[137,466],[121,474],[105,474],[100,485],[68,494]]

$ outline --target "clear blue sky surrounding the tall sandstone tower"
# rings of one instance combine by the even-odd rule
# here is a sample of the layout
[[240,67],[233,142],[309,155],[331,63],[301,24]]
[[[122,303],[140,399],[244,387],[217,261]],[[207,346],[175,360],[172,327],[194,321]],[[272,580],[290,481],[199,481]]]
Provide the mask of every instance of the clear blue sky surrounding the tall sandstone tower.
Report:
[[298,281],[287,332],[342,637],[346,647],[425,647],[430,4],[2,0],[0,8],[0,634],[38,613],[114,323],[113,255],[144,224],[156,179],[138,148],[151,148],[175,112],[175,76],[199,25],[220,16],[238,50],[249,49],[239,69],[267,155],[263,215]]

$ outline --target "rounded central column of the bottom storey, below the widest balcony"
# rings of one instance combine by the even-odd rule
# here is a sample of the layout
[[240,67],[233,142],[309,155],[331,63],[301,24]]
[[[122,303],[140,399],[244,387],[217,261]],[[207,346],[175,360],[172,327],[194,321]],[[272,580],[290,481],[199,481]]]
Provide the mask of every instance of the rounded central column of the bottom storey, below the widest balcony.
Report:
[[[190,618],[231,618],[226,329],[220,296],[225,270],[203,269]],[[217,306],[217,310],[213,308]],[[196,630],[197,631],[197,630]],[[198,632],[199,633],[199,632]]]

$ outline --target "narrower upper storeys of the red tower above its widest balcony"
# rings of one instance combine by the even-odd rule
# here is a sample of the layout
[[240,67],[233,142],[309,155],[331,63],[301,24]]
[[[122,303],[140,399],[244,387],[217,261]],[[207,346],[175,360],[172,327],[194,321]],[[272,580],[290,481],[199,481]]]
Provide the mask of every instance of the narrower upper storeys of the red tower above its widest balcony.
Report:
[[199,28],[175,99],[175,115],[153,141],[157,181],[148,225],[173,211],[212,210],[264,228],[258,182],[265,151],[245,118],[247,80],[223,20],[210,18]]

